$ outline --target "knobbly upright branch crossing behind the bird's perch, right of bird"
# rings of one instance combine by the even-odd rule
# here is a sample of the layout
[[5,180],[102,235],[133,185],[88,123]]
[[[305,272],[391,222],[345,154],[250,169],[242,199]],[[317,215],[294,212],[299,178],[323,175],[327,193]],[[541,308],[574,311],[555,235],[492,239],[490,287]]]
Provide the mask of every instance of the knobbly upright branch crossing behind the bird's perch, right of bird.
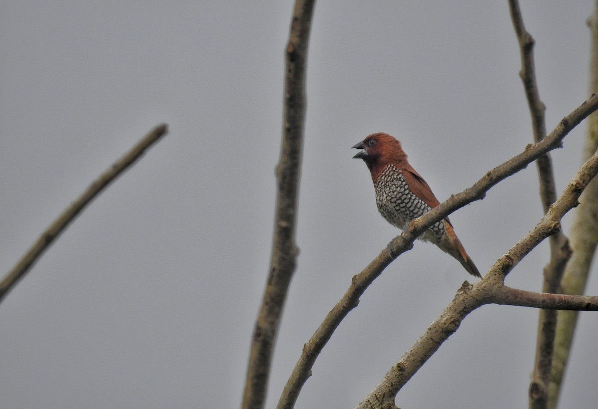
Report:
[[[525,90],[527,104],[532,117],[534,142],[544,139],[546,134],[544,112],[545,106],[541,102],[538,85],[536,84],[535,64],[533,59],[534,40],[525,29],[523,18],[517,0],[509,0],[511,19],[517,33],[521,52],[521,81]],[[536,161],[540,182],[540,198],[544,213],[556,201],[556,185],[550,155],[541,156]],[[550,262],[544,267],[544,293],[556,293],[559,290],[560,280],[569,260],[571,250],[569,241],[561,232],[550,237]],[[557,311],[541,309],[538,319],[538,342],[536,343],[536,359],[530,384],[530,408],[545,408],[548,396],[548,382],[552,366],[554,333],[557,325]]]

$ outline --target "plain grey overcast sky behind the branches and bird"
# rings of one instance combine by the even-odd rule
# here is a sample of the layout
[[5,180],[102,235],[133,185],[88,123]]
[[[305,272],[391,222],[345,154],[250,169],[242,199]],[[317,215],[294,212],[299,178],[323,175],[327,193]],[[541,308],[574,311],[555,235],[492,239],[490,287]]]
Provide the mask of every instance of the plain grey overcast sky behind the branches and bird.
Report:
[[[593,2],[521,10],[550,131],[588,95]],[[0,305],[2,407],[239,406],[269,265],[291,12],[289,0],[0,3],[1,271],[154,125],[170,129]],[[350,147],[377,131],[398,137],[444,201],[532,142],[507,1],[319,1],[310,40],[301,254],[268,408],[352,276],[399,233]],[[559,192],[584,130],[553,153]],[[541,217],[530,165],[451,221],[485,272]],[[538,291],[547,260],[545,243],[507,284]],[[465,279],[417,242],[340,325],[297,408],[356,405]],[[397,405],[526,407],[537,319],[476,310]],[[563,407],[598,401],[597,327],[598,313],[581,314]]]

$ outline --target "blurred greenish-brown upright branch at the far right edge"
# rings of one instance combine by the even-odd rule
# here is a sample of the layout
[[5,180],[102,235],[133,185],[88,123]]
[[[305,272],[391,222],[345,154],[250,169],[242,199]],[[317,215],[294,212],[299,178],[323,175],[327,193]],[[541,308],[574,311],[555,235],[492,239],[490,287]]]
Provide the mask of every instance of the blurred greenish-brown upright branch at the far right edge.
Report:
[[[588,19],[591,29],[590,93],[598,92],[598,1],[594,14]],[[598,149],[598,114],[588,117],[583,158],[589,158]],[[563,294],[583,294],[588,280],[590,266],[598,245],[598,180],[594,179],[579,198],[581,204],[575,211],[570,233],[574,253],[565,269],[561,283]],[[556,340],[548,385],[548,407],[556,408],[565,375],[578,312],[559,311]]]

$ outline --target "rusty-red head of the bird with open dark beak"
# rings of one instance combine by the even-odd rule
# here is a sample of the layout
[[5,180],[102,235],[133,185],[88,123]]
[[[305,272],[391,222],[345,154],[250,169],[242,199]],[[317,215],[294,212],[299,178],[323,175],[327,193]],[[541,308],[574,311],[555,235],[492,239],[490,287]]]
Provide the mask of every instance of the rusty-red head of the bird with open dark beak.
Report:
[[408,165],[407,155],[403,152],[401,142],[385,133],[368,135],[364,140],[355,144],[353,149],[363,149],[353,158],[363,159],[368,165],[374,181],[384,170],[386,165],[393,164],[399,169]]

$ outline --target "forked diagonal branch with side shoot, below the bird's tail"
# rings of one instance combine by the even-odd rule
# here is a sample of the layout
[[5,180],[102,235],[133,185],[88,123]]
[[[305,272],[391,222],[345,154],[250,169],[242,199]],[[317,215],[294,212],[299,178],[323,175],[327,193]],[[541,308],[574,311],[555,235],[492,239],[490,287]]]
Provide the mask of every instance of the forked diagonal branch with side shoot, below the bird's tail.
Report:
[[[527,235],[517,242],[507,253],[498,259],[481,281],[471,285],[463,283],[454,300],[435,319],[417,342],[402,356],[401,360],[386,373],[382,382],[356,407],[395,409],[395,397],[402,386],[422,367],[438,348],[451,336],[463,318],[472,310],[489,303],[527,305],[534,307],[557,307],[559,302],[567,309],[596,309],[598,297],[587,299],[556,294],[536,294],[514,288],[504,288],[504,278],[533,248],[560,228],[560,220],[578,204],[579,195],[598,173],[598,150],[575,174],[565,192],[554,202],[547,214]],[[520,295],[525,298],[516,303],[507,302],[507,295]],[[588,305],[588,301],[590,302]]]

